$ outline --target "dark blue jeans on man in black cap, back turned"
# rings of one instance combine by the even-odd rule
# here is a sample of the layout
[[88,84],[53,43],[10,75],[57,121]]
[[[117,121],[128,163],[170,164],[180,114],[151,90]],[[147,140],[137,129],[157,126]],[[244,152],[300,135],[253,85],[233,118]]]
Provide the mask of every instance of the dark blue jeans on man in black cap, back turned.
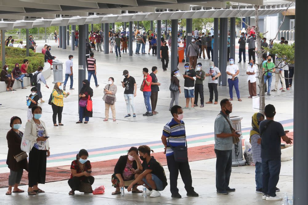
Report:
[[275,160],[262,159],[262,192],[268,196],[276,196],[276,186],[279,181],[281,158]]

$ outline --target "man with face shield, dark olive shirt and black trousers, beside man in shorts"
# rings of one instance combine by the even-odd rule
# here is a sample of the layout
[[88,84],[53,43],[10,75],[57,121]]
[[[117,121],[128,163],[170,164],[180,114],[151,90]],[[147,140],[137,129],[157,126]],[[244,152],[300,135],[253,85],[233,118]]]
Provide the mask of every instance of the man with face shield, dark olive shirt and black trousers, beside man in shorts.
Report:
[[202,70],[202,64],[197,63],[196,67],[196,83],[195,83],[195,102],[194,107],[198,106],[198,94],[200,94],[200,107],[204,107],[203,81],[205,79],[205,72]]

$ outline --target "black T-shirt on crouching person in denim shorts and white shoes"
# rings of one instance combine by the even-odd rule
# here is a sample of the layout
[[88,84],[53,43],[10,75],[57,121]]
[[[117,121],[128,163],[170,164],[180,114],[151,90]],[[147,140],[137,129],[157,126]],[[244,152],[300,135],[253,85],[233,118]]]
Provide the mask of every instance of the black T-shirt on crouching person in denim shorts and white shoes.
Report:
[[143,161],[142,168],[143,171],[146,169],[152,170],[151,174],[156,175],[163,182],[164,188],[168,185],[164,168],[153,156],[149,163],[146,160]]

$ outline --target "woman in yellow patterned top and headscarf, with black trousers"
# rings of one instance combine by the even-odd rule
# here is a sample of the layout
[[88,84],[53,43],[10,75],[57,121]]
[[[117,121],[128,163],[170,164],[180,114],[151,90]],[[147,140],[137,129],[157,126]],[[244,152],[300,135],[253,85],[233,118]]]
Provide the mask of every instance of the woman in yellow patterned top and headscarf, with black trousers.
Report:
[[70,93],[65,93],[62,90],[62,86],[60,82],[55,83],[54,89],[52,90],[52,99],[51,99],[51,108],[52,108],[52,121],[54,122],[54,126],[58,126],[57,124],[57,114],[59,125],[63,126],[61,123],[62,120],[62,111],[63,111],[63,97],[69,96]]

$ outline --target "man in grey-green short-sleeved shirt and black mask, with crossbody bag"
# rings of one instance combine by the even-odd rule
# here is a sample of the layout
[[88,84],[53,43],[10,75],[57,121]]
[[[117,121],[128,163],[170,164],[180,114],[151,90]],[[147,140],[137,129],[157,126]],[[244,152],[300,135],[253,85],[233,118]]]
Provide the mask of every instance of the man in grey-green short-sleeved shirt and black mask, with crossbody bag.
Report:
[[233,137],[240,137],[239,131],[232,128],[229,114],[232,112],[232,103],[228,99],[220,101],[221,111],[214,123],[214,151],[216,154],[216,189],[217,194],[228,194],[235,189],[229,187]]

